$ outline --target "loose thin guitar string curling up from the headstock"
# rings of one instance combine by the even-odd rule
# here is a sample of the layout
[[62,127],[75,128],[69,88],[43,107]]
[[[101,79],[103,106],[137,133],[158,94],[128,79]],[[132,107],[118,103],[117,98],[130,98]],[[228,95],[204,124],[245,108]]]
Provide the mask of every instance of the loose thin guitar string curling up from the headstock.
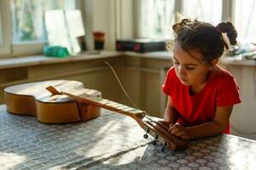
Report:
[[[123,90],[123,92],[125,93],[125,96],[127,97],[127,99],[129,99],[129,101],[131,102],[131,104],[134,105],[134,106],[137,108],[137,110],[143,111],[143,110],[141,110],[141,109],[136,105],[136,103],[131,99],[130,95],[126,92],[124,86],[122,85],[122,83],[121,83],[120,80],[119,80],[119,77],[117,76],[116,72],[114,71],[113,66],[110,65],[110,64],[108,63],[108,61],[105,61],[105,60],[97,60],[97,61],[94,61],[94,62],[91,63],[91,65],[94,65],[95,63],[98,63],[98,62],[103,62],[103,63],[105,63],[106,65],[109,66],[109,68],[110,68],[111,71],[113,72],[114,77],[115,77],[115,78],[117,79],[117,81],[119,82],[119,86],[122,88],[122,90]],[[150,116],[146,111],[143,111],[143,113],[146,114],[147,116]],[[151,118],[149,118],[149,117],[148,117],[148,119],[149,119],[150,121],[153,121],[153,120],[152,120]],[[153,122],[154,122],[154,121],[153,121]]]

